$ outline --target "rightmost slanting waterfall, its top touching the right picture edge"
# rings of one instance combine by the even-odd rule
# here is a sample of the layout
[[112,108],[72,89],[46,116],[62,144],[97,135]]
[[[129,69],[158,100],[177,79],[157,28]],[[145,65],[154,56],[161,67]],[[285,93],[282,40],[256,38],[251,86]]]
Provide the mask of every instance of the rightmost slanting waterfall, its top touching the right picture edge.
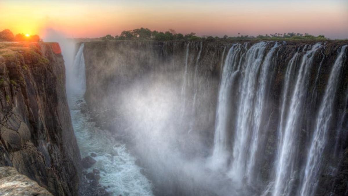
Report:
[[341,52],[339,53],[332,67],[324,98],[319,109],[313,139],[311,142],[309,154],[307,156],[304,181],[301,188],[301,196],[314,195],[317,187],[318,171],[321,166],[322,153],[325,148],[327,131],[329,131],[332,118],[332,109],[338,86],[338,75],[342,67],[346,48],[347,45],[341,48]]

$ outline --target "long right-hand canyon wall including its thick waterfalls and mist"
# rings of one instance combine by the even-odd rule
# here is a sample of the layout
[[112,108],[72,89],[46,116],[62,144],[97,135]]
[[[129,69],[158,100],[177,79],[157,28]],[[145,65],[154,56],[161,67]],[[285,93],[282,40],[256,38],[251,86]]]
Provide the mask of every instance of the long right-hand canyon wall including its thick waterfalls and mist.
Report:
[[[315,146],[312,144],[314,135],[318,134],[315,126],[319,122],[317,118],[326,99],[324,95],[329,80],[332,80],[331,70],[342,57],[340,64],[336,65],[339,66],[334,87],[337,90],[332,91],[335,95],[333,109],[327,123],[330,128],[327,134],[325,132],[327,141],[320,153],[317,188],[310,193],[347,194],[348,50],[343,47],[347,44],[346,41],[89,42],[84,45],[85,99],[100,127],[139,147],[135,147],[135,153],[140,157],[139,164],[150,168],[148,175],[157,186],[158,195],[223,195],[221,184],[228,184],[227,180],[209,184],[211,181],[197,180],[184,171],[189,164],[174,164],[178,167],[175,170],[173,165],[169,168],[166,166],[168,162],[161,160],[171,159],[168,157],[177,151],[185,163],[207,160],[211,156],[214,160],[221,159],[219,145],[227,151],[227,158],[222,159],[223,172],[226,169],[230,171],[227,173],[238,171],[239,165],[240,168],[249,167],[251,160],[254,164],[250,171],[246,171],[250,174],[233,174],[234,177],[241,176],[239,181],[244,182],[242,186],[246,186],[246,190],[252,190],[240,195],[277,195],[277,191],[285,195],[301,195],[302,184],[307,180],[306,170],[310,167],[306,166],[306,161],[310,160],[311,149],[316,148],[312,147]],[[262,75],[266,64],[268,68]],[[223,69],[229,65],[231,70],[224,73]],[[248,66],[259,68],[249,70]],[[246,76],[250,78],[245,80]],[[225,84],[224,77],[234,79]],[[221,92],[222,85],[229,86],[230,90]],[[297,94],[301,103],[299,107],[296,101],[291,101]],[[263,97],[262,103],[257,102],[261,100],[260,96]],[[226,103],[222,107],[226,111],[220,113],[217,107],[221,102]],[[262,105],[260,116],[256,115],[258,104]],[[296,106],[296,110],[291,108],[291,104]],[[241,108],[244,108],[244,113],[240,112],[243,111]],[[227,120],[223,122],[223,134],[219,139],[217,134],[221,133],[217,131],[220,128],[216,119],[221,115]],[[290,118],[291,115],[296,118]],[[289,132],[282,129],[283,118],[289,122],[288,127],[294,122],[293,128],[287,129],[295,134],[283,135]],[[255,136],[252,132],[256,129],[260,135]],[[250,134],[243,131],[250,131]],[[291,140],[287,142],[286,137],[291,137]],[[243,140],[247,145],[242,143]],[[254,146],[253,142],[256,143]],[[291,142],[294,150],[285,154],[288,159],[280,156],[286,150],[282,146]],[[170,150],[149,154],[160,151],[159,146]],[[240,159],[236,150],[245,152]],[[218,156],[214,157],[214,154]],[[151,160],[149,156],[153,156]],[[289,160],[291,165],[279,166],[284,160]],[[153,165],[166,171],[170,179],[153,174],[158,172],[156,169],[151,171]],[[282,176],[285,171],[289,171],[288,176]],[[205,177],[214,179],[209,175]],[[287,181],[291,182],[291,187],[280,186]],[[198,188],[191,182],[203,185]],[[211,187],[207,188],[205,182]]]

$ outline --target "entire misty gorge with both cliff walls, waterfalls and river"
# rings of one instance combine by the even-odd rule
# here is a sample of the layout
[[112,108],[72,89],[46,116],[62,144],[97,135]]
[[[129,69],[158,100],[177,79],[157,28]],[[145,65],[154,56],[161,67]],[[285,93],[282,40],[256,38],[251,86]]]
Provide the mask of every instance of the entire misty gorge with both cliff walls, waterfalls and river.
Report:
[[53,195],[348,195],[347,41],[60,44],[0,57],[0,166]]

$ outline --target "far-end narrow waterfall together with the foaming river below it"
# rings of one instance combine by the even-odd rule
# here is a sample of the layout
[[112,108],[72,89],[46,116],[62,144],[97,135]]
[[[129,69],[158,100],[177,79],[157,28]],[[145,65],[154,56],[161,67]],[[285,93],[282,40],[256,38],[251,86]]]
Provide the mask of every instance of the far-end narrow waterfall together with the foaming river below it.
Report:
[[85,104],[86,90],[85,61],[82,44],[74,61],[72,89],[69,105],[74,132],[81,151],[81,157],[94,152],[97,157],[95,165],[87,171],[97,168],[101,172],[100,184],[109,187],[106,190],[112,195],[152,196],[151,182],[140,172],[141,167],[135,164],[135,158],[127,151],[125,144],[116,141],[107,130],[101,130],[89,121],[87,114],[81,113],[81,105]]

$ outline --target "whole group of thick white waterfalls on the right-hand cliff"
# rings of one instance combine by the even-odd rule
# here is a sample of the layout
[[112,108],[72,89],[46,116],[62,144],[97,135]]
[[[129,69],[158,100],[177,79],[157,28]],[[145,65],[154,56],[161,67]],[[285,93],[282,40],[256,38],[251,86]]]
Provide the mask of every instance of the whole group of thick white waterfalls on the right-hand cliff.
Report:
[[[224,61],[221,72],[218,104],[216,109],[214,148],[211,160],[216,169],[229,170],[229,176],[235,182],[244,182],[246,186],[259,184],[260,154],[265,138],[262,131],[267,129],[266,105],[268,91],[272,77],[272,60],[278,58],[281,45],[274,43],[268,50],[266,48],[272,42],[260,42],[246,49],[240,44],[232,45]],[[284,43],[286,44],[286,43]],[[321,166],[322,153],[326,145],[327,131],[330,126],[332,108],[338,88],[338,75],[340,73],[347,46],[341,48],[340,53],[332,67],[327,83],[324,98],[320,106],[316,125],[313,127],[313,139],[310,144],[307,160],[300,164],[299,146],[300,132],[304,114],[306,99],[317,99],[316,86],[319,85],[319,75],[324,60],[325,47],[321,43],[298,47],[288,61],[284,73],[282,95],[280,96],[279,119],[277,128],[276,153],[274,167],[270,172],[269,184],[261,192],[263,195],[290,196],[290,195],[314,195],[316,193],[317,176]],[[244,49],[244,50],[243,50]],[[278,50],[278,52],[276,52]],[[322,57],[317,61],[318,68],[313,77],[313,90],[307,93],[309,77],[314,66],[316,53],[320,51]],[[276,57],[275,57],[275,54]],[[237,77],[238,76],[238,77]],[[294,78],[294,79],[293,79]],[[238,89],[238,91],[236,91]],[[231,95],[235,96],[232,97]],[[308,97],[307,97],[308,96]],[[345,96],[343,107],[346,108]],[[231,116],[233,107],[238,107],[237,118]],[[315,102],[311,102],[315,103]],[[337,120],[338,131],[343,128],[345,111],[340,112]],[[236,122],[234,122],[236,121]],[[342,122],[341,122],[342,121]],[[301,130],[301,129],[300,129]],[[232,136],[232,137],[231,137]],[[336,136],[337,143],[340,142]],[[230,141],[232,140],[232,141]],[[336,149],[337,144],[333,149]],[[304,171],[301,173],[301,171]],[[303,179],[302,181],[300,181]],[[300,189],[298,183],[300,184]],[[267,184],[267,182],[265,182]],[[297,184],[296,184],[297,183]],[[242,184],[240,186],[243,186]]]

